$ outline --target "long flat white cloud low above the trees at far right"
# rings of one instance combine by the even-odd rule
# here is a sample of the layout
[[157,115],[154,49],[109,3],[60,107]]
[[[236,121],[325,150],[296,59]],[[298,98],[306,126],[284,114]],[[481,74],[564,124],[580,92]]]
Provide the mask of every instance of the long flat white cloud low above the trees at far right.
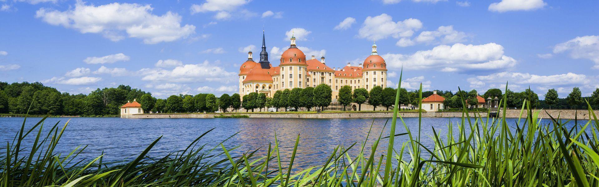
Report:
[[[583,86],[591,83],[590,77],[583,74],[557,74],[550,76],[539,76],[529,73],[512,73],[512,72],[501,72],[494,73],[488,76],[476,76],[468,78],[471,88],[485,88],[488,84],[491,86],[497,86],[497,84],[505,84],[515,86]],[[495,84],[495,85],[493,85]]]

